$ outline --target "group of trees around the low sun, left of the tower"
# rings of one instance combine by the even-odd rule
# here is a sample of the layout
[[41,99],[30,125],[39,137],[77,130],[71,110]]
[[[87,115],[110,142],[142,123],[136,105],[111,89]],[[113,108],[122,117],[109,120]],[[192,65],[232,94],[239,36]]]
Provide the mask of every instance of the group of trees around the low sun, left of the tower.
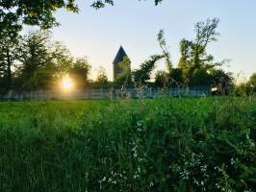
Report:
[[89,82],[90,64],[74,58],[62,43],[52,42],[48,32],[1,38],[0,87],[4,90],[56,88],[64,74],[84,88]]

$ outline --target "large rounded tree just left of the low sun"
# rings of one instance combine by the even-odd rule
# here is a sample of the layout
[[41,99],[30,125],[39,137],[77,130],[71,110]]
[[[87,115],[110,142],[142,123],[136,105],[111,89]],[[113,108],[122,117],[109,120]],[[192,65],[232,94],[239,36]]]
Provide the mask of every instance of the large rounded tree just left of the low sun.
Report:
[[19,46],[16,86],[28,89],[54,88],[73,66],[73,58],[60,42],[51,42],[47,31],[23,36]]

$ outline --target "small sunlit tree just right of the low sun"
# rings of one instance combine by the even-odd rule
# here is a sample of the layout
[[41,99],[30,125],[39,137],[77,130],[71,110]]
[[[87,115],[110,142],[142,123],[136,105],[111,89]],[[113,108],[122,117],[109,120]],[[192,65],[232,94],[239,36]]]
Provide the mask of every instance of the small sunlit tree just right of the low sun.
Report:
[[72,63],[68,75],[74,81],[76,88],[83,89],[89,83],[90,68],[87,58],[78,58]]

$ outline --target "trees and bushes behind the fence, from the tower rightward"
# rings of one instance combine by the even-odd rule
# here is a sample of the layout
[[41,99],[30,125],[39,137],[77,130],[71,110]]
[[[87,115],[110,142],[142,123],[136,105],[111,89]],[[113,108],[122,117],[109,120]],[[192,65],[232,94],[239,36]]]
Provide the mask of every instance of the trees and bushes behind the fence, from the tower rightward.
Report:
[[[207,53],[207,47],[211,42],[218,40],[218,18],[207,19],[198,22],[194,26],[195,38],[180,41],[180,60],[174,67],[171,61],[171,53],[166,43],[164,31],[158,34],[158,42],[162,54],[149,57],[141,63],[140,68],[127,71],[117,77],[115,84],[128,86],[155,86],[155,87],[192,87],[205,86],[212,88],[218,95],[252,95],[256,93],[256,73],[247,83],[236,84],[236,78],[231,72],[226,72],[222,66],[229,60],[216,61],[214,56]],[[152,81],[152,73],[157,62],[165,60],[167,70],[157,71]],[[127,66],[129,60],[125,59],[120,66]],[[128,67],[126,67],[128,68]],[[125,69],[125,68],[124,68]],[[125,70],[124,70],[125,71]]]

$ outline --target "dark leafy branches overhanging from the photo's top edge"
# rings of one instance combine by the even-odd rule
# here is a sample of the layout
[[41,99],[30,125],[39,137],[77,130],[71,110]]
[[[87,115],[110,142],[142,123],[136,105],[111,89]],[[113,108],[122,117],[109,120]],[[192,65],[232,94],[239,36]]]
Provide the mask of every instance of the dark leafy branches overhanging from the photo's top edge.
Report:
[[[158,5],[162,0],[155,0]],[[95,0],[91,7],[100,9],[114,5],[114,0]],[[12,38],[22,30],[23,25],[39,26],[49,29],[59,25],[55,12],[65,9],[67,12],[79,12],[76,0],[2,0],[0,1],[0,36],[9,31]]]

